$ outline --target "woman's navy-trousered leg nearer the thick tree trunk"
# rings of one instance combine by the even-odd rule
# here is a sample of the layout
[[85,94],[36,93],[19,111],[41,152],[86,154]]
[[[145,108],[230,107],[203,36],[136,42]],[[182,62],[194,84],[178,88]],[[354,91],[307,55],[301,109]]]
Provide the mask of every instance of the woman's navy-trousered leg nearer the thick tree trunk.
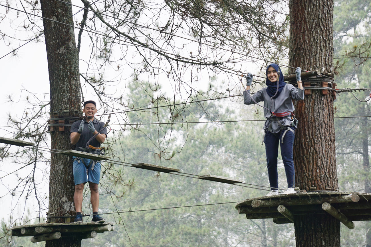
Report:
[[288,130],[283,138],[283,143],[281,143],[281,138],[284,132],[285,129],[283,129],[280,134],[281,156],[283,165],[285,166],[287,185],[289,188],[292,188],[295,184],[295,168],[292,156],[295,134]]

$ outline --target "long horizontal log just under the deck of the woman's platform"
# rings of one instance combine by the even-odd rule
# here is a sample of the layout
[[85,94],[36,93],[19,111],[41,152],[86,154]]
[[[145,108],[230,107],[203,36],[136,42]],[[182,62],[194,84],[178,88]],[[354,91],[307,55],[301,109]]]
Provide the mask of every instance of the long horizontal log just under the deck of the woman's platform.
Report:
[[253,200],[251,203],[252,207],[278,207],[282,204],[285,206],[297,206],[297,205],[310,205],[310,204],[322,204],[324,202],[328,203],[347,203],[347,202],[359,201],[359,196],[357,194],[348,195],[329,195],[329,196],[317,196],[311,195],[311,197],[276,197],[266,199]]

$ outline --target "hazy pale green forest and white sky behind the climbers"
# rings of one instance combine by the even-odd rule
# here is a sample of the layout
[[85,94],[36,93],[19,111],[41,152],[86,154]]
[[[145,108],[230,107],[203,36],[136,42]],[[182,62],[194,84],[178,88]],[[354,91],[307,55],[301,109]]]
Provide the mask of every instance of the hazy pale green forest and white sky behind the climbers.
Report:
[[[287,14],[287,8],[283,7],[283,10],[286,10],[286,13],[283,11],[282,15]],[[371,34],[370,13],[371,4],[368,1],[335,1],[334,47],[336,59],[334,63],[337,72],[335,82],[338,84],[338,88],[370,88],[371,71],[368,61]],[[7,17],[9,18],[9,14]],[[80,16],[76,16],[77,18],[80,18]],[[282,20],[285,20],[285,18],[283,16]],[[1,22],[1,31],[5,29],[3,26],[9,25],[9,21],[4,20],[7,19],[3,19]],[[75,23],[80,21],[77,19]],[[16,31],[14,32],[16,33]],[[285,34],[285,31],[282,31],[282,33]],[[78,36],[78,31],[75,31],[75,34]],[[16,46],[18,43],[12,44]],[[171,87],[169,84],[162,83],[163,75],[160,75],[160,73],[160,79],[157,80],[152,80],[151,76],[144,79],[140,74],[134,72],[127,73],[125,77],[118,77],[118,74],[109,74],[116,70],[115,62],[117,61],[110,60],[110,49],[113,46],[110,47],[108,41],[102,41],[101,44],[98,54],[101,57],[94,54],[98,57],[95,60],[97,61],[95,66],[96,74],[100,74],[101,77],[95,78],[95,84],[92,83],[95,91],[89,89],[90,85],[87,85],[84,94],[86,98],[88,98],[88,95],[102,95],[99,94],[99,90],[104,87],[103,81],[108,77],[110,79],[116,77],[116,80],[111,80],[111,85],[106,87],[114,88],[121,94],[119,97],[115,96],[115,99],[122,97],[124,106],[132,108],[162,106],[170,104],[170,99],[173,99],[175,103],[187,101],[186,98],[180,96],[181,93],[184,94],[187,88],[183,87],[183,89],[178,91],[177,86]],[[4,47],[4,49],[1,49],[2,51],[11,50],[9,43],[6,43],[6,41],[2,46]],[[276,52],[276,55],[279,56],[278,62],[285,63],[287,47],[285,47],[284,42],[282,47],[276,47],[275,51],[269,51],[269,48],[265,48],[267,53]],[[104,49],[106,49],[105,53],[102,53]],[[26,53],[27,51],[32,52],[27,46],[23,47],[22,52]],[[3,60],[1,61],[2,63],[12,62],[13,67],[17,67],[17,64],[23,59],[19,54],[18,56],[17,54],[9,56],[13,56],[12,59],[6,60],[7,58],[5,58],[4,62],[3,58],[0,61]],[[127,54],[127,56],[135,55]],[[242,57],[239,62],[241,63],[243,59]],[[109,62],[109,65],[106,65],[108,68],[105,69],[105,73],[102,72],[103,70],[100,70],[103,60]],[[32,61],[27,63],[32,63]],[[81,61],[81,63],[86,63],[86,61]],[[43,66],[46,66],[46,63]],[[260,63],[254,67],[252,64],[243,66],[240,66],[242,70],[249,68],[249,71],[255,72],[254,74],[257,75],[259,70],[266,66],[266,63]],[[2,67],[4,68],[5,66]],[[250,68],[255,69],[250,70]],[[119,66],[117,70],[119,70]],[[2,71],[3,74],[7,72],[6,70]],[[44,71],[46,71],[46,67]],[[17,80],[16,77],[17,75],[13,74],[12,80]],[[205,82],[204,80],[200,79],[200,82],[198,82],[197,78],[193,78],[194,81],[187,79],[194,83],[189,88],[198,90],[196,93],[198,100],[205,99],[206,96],[218,97],[220,96],[218,93],[224,89],[228,89],[229,91],[227,91],[230,92],[230,95],[241,93],[237,75],[225,77],[216,75],[216,73],[204,73],[203,79],[204,77],[208,77],[206,79],[207,86],[202,84]],[[47,75],[40,75],[40,78],[47,80]],[[92,81],[91,78],[85,81],[84,84],[89,84],[88,82]],[[3,96],[4,105],[13,107],[12,112],[17,112],[17,114],[11,113],[8,115],[9,118],[2,123],[4,136],[6,136],[5,131],[11,133],[20,126],[27,128],[27,126],[22,126],[22,119],[27,118],[28,113],[26,112],[31,113],[35,109],[44,109],[35,107],[40,106],[40,104],[36,104],[36,102],[39,102],[38,100],[44,103],[48,101],[46,93],[34,90],[36,85],[30,86],[28,83],[24,83],[24,89],[21,94],[12,89],[12,97]],[[232,88],[230,88],[230,85],[233,85]],[[171,89],[168,89],[168,87]],[[259,85],[257,86],[258,88]],[[109,89],[107,91],[112,93]],[[173,95],[171,95],[172,93]],[[357,96],[361,98],[364,94],[359,93]],[[108,107],[110,104],[109,100],[113,96],[110,97],[97,98],[97,101],[101,103],[101,111],[112,111]],[[156,99],[155,102],[154,99]],[[11,102],[12,104],[5,104],[9,100],[13,101]],[[102,104],[104,101],[106,105]],[[108,146],[111,149],[112,156],[127,162],[161,164],[161,166],[179,168],[186,173],[198,175],[214,174],[236,178],[245,183],[267,186],[269,183],[266,174],[265,150],[260,145],[262,121],[195,124],[170,123],[140,126],[135,124],[262,119],[262,109],[254,106],[244,106],[241,101],[242,97],[231,97],[205,101],[204,103],[187,104],[184,105],[183,109],[177,109],[175,112],[169,112],[167,107],[128,112],[122,119],[112,123],[112,132],[109,134]],[[361,103],[347,93],[338,95],[335,107],[335,117],[370,115],[369,103]],[[3,108],[6,112],[9,111],[8,107]],[[47,113],[46,110],[45,113]],[[3,115],[6,116],[5,113]],[[20,117],[21,120],[17,120],[17,117]],[[104,120],[106,120],[106,116],[102,116],[102,121]],[[120,128],[113,125],[119,123],[125,123],[126,125],[119,126]],[[40,124],[40,126],[43,125]],[[371,133],[369,119],[335,119],[335,127],[336,161],[340,190],[371,192],[370,166],[368,164],[368,141],[370,139],[368,133]],[[8,135],[6,137],[14,136]],[[47,143],[47,137],[43,141]],[[2,148],[1,150],[4,152],[7,149]],[[14,153],[24,154],[25,151],[21,148],[14,151]],[[2,194],[0,195],[1,206],[10,207],[9,213],[1,214],[2,231],[3,236],[5,236],[1,238],[1,244],[8,244],[9,246],[43,246],[43,243],[31,243],[28,237],[10,238],[7,229],[16,224],[37,223],[40,222],[40,218],[45,217],[48,193],[48,186],[45,185],[48,181],[47,154],[45,154],[45,160],[40,160],[40,163],[44,163],[45,167],[37,165],[36,174],[39,177],[35,180],[39,184],[35,186],[34,190],[21,190],[20,187],[14,186],[14,183],[22,184],[29,177],[24,176],[27,171],[21,170],[10,174],[13,170],[9,168],[9,163],[12,163],[12,167],[18,171],[17,166],[21,167],[22,162],[24,163],[22,155],[13,157],[7,156],[6,153],[1,153],[1,155],[2,157],[4,156],[1,161],[0,176],[4,188],[1,189]],[[109,163],[104,164],[104,167],[101,180],[101,213],[235,202],[262,196],[267,192],[261,190],[263,187],[254,189],[220,184],[171,174],[158,174],[154,171]],[[30,169],[29,171],[35,171],[35,169]],[[279,187],[285,188],[282,164],[279,164],[279,181]],[[24,184],[27,183],[24,182]],[[22,193],[22,191],[25,191],[25,193]],[[38,193],[40,203],[36,199],[31,198],[33,194],[30,192]],[[89,213],[88,191],[85,191],[85,195],[84,213]],[[82,246],[295,246],[293,225],[276,225],[272,220],[264,219],[247,220],[243,215],[237,214],[237,210],[234,208],[235,204],[139,211],[121,213],[119,215],[106,214],[106,221],[116,223],[115,232],[98,234],[94,239],[83,240]],[[366,244],[371,244],[371,241],[367,239],[371,223],[356,222],[355,229],[349,230],[342,226],[342,246],[365,246]]]

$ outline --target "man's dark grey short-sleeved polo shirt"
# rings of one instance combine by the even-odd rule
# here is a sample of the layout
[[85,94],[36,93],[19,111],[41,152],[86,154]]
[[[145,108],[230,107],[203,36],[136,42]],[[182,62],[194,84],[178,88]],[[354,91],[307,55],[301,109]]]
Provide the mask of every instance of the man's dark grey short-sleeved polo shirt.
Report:
[[[70,133],[77,132],[79,130],[80,123],[81,123],[81,120],[74,122],[71,126]],[[107,128],[106,127],[103,128],[104,122],[98,121],[94,118],[93,126],[94,126],[95,130],[98,131],[98,132],[103,129],[100,133],[105,134],[106,137],[107,137]],[[79,149],[79,147],[84,147],[85,148],[86,143],[93,136],[94,136],[94,134],[91,133],[90,130],[88,129],[88,122],[86,121],[86,119],[84,119],[84,129],[81,133],[80,139],[76,143],[75,150],[82,151],[81,149]],[[95,138],[93,138],[90,141],[89,144],[92,145],[93,147],[100,147],[101,146],[101,143],[99,143],[99,141],[97,141]]]

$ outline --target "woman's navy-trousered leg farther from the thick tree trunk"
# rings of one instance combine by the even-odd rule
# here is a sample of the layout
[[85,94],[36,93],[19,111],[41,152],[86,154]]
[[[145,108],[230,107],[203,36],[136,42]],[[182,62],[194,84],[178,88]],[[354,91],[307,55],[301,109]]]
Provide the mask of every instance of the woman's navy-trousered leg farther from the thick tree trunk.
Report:
[[278,188],[277,157],[278,157],[278,137],[267,132],[264,137],[265,154],[267,157],[268,178],[271,190]]

